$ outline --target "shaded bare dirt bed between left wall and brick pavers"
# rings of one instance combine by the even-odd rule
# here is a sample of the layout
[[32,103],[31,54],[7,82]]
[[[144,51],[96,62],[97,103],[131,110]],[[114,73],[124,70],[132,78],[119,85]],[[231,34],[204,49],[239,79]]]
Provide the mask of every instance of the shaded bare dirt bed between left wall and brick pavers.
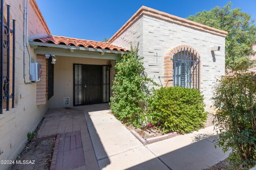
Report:
[[27,143],[16,160],[27,160],[34,164],[14,164],[11,170],[50,169],[55,137],[32,140]]

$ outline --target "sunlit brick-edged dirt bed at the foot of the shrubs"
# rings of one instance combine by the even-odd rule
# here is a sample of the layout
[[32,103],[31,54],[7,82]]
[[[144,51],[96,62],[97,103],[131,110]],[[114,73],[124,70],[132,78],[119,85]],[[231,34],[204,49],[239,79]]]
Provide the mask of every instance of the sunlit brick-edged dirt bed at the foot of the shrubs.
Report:
[[[124,124],[125,125],[125,124]],[[130,125],[130,126],[126,126],[125,127],[127,129],[134,130],[135,132],[137,132],[143,139],[148,139],[148,138],[153,138],[153,137],[159,137],[161,135],[163,135],[162,131],[159,131],[156,128],[150,128],[150,129],[139,129],[139,128],[135,128],[134,126]]]

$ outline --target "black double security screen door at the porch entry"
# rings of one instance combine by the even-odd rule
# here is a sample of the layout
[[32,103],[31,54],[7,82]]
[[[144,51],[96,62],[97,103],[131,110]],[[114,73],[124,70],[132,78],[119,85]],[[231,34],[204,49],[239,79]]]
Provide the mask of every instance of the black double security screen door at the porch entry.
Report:
[[109,66],[74,64],[74,106],[109,101]]

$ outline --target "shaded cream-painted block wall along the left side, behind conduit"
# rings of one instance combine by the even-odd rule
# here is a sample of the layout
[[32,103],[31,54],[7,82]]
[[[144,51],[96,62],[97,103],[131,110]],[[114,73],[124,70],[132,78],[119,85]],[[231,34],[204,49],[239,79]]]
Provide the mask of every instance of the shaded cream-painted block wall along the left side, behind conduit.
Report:
[[[36,84],[23,82],[23,4],[22,1],[6,0],[11,5],[12,18],[16,20],[16,48],[15,48],[15,108],[0,114],[0,160],[14,160],[27,141],[27,133],[35,130],[47,111],[47,105],[36,106]],[[31,15],[34,15],[32,18]],[[29,7],[29,33],[37,36],[47,35],[41,22]],[[31,29],[33,28],[33,29]],[[30,49],[30,47],[29,47]],[[35,58],[30,49],[31,57]],[[28,57],[27,57],[28,58]],[[27,61],[28,62],[28,61]],[[27,64],[28,65],[28,64]],[[28,71],[28,70],[27,70]],[[9,165],[0,165],[0,169],[7,169]]]

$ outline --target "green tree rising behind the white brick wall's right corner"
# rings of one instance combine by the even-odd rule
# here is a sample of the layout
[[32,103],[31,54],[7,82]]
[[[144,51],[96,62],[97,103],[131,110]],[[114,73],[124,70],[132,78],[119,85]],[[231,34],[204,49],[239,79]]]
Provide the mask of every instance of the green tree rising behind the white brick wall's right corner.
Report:
[[215,7],[210,11],[190,15],[189,20],[228,31],[226,37],[226,67],[243,70],[251,66],[248,56],[254,52],[252,44],[256,42],[256,26],[251,15],[243,13],[240,8],[231,9],[229,2],[224,7]]

